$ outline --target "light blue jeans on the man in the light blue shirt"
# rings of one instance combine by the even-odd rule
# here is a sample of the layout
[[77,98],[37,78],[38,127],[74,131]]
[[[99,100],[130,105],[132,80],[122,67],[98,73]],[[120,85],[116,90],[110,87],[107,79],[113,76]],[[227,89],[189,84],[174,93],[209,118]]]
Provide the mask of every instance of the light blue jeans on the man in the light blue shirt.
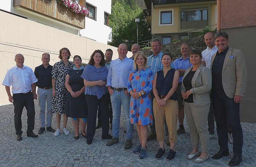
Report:
[[112,120],[112,133],[113,137],[118,138],[119,126],[120,126],[120,115],[121,115],[121,105],[123,106],[125,121],[126,121],[126,139],[132,139],[133,125],[129,120],[129,110],[130,110],[130,95],[124,94],[123,91],[114,91],[110,96],[113,110],[113,120]]

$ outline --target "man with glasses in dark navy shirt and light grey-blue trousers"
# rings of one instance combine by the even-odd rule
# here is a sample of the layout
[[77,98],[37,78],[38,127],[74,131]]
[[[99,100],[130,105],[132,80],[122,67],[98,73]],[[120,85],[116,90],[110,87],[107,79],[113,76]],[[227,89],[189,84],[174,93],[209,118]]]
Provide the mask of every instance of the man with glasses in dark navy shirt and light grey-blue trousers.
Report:
[[43,64],[35,68],[35,76],[37,78],[36,86],[38,96],[39,121],[40,129],[38,134],[42,134],[45,131],[45,102],[47,102],[47,118],[46,118],[46,130],[55,132],[52,126],[52,69],[53,66],[49,65],[50,55],[49,53],[43,53],[42,62]]

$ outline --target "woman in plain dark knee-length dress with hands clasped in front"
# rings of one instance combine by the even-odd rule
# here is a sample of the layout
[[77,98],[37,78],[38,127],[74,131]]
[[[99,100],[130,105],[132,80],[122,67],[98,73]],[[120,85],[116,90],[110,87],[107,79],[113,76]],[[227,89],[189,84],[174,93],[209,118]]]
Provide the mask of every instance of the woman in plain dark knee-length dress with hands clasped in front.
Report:
[[72,118],[72,124],[75,129],[74,139],[79,139],[79,122],[81,134],[86,138],[85,127],[87,123],[88,108],[85,99],[84,80],[81,77],[84,67],[81,65],[82,59],[75,55],[74,67],[69,70],[66,76],[65,86],[67,88],[67,117]]

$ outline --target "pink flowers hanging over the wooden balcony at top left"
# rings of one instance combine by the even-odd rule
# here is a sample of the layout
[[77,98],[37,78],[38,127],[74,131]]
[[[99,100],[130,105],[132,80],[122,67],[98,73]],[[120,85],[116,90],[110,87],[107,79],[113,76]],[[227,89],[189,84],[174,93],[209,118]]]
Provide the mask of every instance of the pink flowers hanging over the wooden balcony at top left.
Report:
[[86,15],[89,12],[88,9],[86,9],[84,6],[76,2],[73,2],[71,0],[57,0],[57,2],[64,5],[67,8],[71,8],[72,12],[75,12],[75,13]]

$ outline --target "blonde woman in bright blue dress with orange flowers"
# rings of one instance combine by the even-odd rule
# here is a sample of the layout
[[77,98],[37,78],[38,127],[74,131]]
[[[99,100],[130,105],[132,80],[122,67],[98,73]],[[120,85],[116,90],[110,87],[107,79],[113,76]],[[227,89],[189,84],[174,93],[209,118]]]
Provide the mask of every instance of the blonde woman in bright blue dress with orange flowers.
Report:
[[137,126],[140,142],[133,153],[140,153],[140,159],[147,157],[147,125],[151,125],[153,119],[150,95],[153,81],[153,72],[147,67],[147,57],[143,51],[138,51],[134,56],[134,70],[130,72],[127,90],[131,94],[129,119],[131,124]]

